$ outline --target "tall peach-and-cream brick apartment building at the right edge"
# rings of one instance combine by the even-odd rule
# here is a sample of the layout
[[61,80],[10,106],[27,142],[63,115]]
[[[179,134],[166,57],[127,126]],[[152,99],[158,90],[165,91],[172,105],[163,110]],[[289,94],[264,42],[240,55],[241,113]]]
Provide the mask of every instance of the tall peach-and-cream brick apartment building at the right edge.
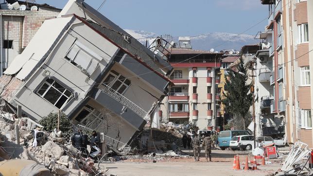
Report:
[[274,90],[271,113],[275,118],[285,118],[288,142],[302,141],[312,148],[310,37],[313,30],[310,22],[313,3],[311,0],[262,0],[261,3],[269,6],[266,30],[272,32],[269,42],[269,58],[273,60],[270,84]]

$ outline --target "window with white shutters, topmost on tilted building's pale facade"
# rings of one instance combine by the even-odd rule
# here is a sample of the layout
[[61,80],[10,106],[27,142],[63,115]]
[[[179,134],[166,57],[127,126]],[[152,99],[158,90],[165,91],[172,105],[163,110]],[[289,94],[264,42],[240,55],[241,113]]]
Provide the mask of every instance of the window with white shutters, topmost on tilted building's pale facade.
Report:
[[100,60],[102,60],[101,56],[94,53],[78,41],[76,41],[70,48],[70,51],[65,58],[89,75],[96,70]]

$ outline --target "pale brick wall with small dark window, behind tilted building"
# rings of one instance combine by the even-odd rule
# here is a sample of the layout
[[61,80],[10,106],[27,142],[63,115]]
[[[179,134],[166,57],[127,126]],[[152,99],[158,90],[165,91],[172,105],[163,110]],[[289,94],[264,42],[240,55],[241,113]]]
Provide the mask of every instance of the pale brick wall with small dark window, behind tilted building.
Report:
[[[28,45],[46,18],[56,17],[60,9],[38,7],[38,11],[0,10],[2,14],[3,68]],[[13,49],[3,49],[3,40],[13,40]]]

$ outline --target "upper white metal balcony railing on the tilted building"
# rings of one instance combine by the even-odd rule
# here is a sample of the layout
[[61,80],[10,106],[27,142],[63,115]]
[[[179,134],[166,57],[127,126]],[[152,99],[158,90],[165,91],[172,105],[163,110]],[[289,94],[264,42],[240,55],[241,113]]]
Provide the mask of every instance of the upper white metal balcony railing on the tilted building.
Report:
[[104,93],[108,94],[110,97],[120,102],[123,106],[126,106],[127,108],[131,109],[136,114],[138,114],[140,117],[147,120],[149,114],[145,110],[143,110],[141,107],[136,105],[134,102],[124,97],[119,92],[115,91],[114,89],[110,88],[109,86],[105,84],[99,85],[98,88],[101,89]]

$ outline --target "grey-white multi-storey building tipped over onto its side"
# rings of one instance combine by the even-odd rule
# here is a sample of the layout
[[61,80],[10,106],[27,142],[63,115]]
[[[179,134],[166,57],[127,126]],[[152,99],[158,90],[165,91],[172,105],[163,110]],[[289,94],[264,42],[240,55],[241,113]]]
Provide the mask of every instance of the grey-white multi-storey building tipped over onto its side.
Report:
[[5,70],[0,93],[34,120],[62,110],[127,144],[167,94],[172,70],[83,0],[70,0]]

